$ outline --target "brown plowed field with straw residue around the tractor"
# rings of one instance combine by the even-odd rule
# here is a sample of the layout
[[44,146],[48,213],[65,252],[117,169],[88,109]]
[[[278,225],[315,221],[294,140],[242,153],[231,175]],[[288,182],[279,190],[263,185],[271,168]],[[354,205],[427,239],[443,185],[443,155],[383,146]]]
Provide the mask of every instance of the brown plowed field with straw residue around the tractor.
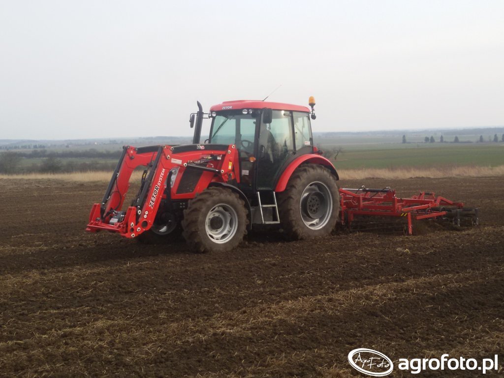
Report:
[[359,347],[395,361],[498,353],[501,365],[504,178],[340,182],[361,184],[434,191],[479,206],[482,224],[253,233],[195,255],[86,233],[105,183],[0,180],[0,376],[363,376],[347,361]]

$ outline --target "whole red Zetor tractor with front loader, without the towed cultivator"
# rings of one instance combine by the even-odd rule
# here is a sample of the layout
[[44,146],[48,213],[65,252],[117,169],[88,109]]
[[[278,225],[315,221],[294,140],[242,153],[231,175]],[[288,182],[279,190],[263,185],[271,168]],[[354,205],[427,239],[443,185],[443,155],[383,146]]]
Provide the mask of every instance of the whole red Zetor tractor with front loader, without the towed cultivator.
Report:
[[[293,239],[328,235],[339,219],[338,173],[313,146],[313,97],[309,105],[227,101],[204,113],[198,102],[193,144],[123,147],[86,230],[146,242],[181,232],[197,252],[231,250],[257,225],[277,225]],[[200,144],[207,117],[210,135]],[[122,210],[139,166],[140,190]]]

